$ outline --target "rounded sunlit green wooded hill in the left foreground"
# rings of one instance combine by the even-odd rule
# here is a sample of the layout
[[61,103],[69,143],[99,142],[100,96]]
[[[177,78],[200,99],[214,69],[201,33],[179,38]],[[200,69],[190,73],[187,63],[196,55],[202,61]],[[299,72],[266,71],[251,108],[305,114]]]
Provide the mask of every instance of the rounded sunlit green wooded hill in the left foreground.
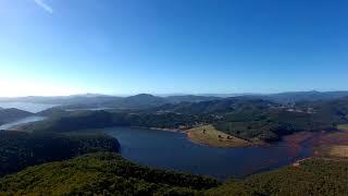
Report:
[[0,192],[38,195],[192,195],[217,186],[209,177],[149,169],[115,154],[89,154],[28,168],[0,180]]

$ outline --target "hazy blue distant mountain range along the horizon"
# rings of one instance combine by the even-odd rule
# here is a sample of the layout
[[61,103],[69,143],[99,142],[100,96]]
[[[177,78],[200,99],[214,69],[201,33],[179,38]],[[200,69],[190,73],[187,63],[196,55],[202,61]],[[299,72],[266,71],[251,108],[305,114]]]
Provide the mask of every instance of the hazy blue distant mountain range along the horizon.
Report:
[[129,97],[117,97],[99,94],[86,94],[62,97],[18,97],[0,98],[0,102],[33,102],[61,105],[64,109],[119,108],[145,109],[167,103],[200,102],[220,100],[227,97],[248,97],[263,99],[275,103],[295,103],[301,101],[332,100],[348,97],[348,91],[293,91],[281,94],[206,94],[206,95],[174,95],[153,96],[139,94]]

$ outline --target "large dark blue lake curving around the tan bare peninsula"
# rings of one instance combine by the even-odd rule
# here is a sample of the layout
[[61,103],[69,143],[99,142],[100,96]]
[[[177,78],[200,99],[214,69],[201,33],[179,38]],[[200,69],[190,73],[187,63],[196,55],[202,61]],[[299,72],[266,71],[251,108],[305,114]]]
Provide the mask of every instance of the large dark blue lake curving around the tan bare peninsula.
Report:
[[221,180],[290,164],[311,152],[306,144],[298,146],[288,142],[262,147],[214,148],[194,144],[182,133],[130,127],[104,131],[119,139],[121,154],[128,160]]

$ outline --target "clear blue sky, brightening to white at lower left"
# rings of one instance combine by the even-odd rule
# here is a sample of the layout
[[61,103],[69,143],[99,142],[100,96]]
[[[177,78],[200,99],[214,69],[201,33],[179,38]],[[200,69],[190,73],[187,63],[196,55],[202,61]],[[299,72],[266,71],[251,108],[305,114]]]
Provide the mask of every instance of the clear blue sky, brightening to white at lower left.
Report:
[[348,89],[347,0],[0,0],[0,96]]

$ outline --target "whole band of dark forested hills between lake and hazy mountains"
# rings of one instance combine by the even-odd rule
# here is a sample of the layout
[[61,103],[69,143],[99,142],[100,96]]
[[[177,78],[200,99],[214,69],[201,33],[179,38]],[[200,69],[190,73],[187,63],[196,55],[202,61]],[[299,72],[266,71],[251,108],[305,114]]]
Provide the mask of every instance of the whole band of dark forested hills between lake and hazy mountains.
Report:
[[248,97],[181,102],[146,110],[44,112],[50,120],[22,126],[33,132],[71,132],[108,126],[190,128],[213,124],[219,131],[244,139],[279,140],[301,131],[336,130],[348,123],[348,98],[278,105]]

